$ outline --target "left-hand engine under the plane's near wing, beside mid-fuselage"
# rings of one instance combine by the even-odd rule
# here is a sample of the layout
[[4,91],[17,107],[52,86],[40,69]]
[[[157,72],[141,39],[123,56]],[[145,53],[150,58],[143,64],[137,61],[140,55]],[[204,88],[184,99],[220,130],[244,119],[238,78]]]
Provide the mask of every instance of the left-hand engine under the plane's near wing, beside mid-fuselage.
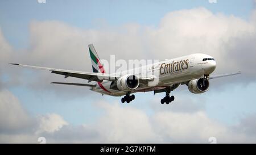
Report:
[[131,91],[137,89],[139,79],[137,76],[127,74],[117,80],[117,88],[121,91]]

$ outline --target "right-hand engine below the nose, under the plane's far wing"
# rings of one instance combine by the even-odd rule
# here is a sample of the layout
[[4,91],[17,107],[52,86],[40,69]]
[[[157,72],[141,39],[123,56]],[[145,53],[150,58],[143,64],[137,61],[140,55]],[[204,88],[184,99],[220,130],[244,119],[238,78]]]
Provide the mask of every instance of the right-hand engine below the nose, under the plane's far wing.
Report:
[[207,78],[192,79],[188,82],[188,90],[194,94],[204,93],[209,89],[210,83]]

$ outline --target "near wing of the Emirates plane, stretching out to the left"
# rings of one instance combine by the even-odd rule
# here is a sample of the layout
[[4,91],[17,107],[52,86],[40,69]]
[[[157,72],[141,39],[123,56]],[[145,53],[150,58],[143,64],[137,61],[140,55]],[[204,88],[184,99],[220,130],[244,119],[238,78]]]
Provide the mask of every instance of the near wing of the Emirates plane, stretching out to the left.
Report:
[[[31,65],[22,65],[22,64],[10,64],[10,65],[18,65],[26,68],[49,70],[51,73],[63,75],[65,76],[65,78],[75,77],[75,78],[88,79],[88,82],[90,81],[102,82],[104,79],[108,81],[115,81],[118,78],[120,78],[120,76],[116,74],[80,72],[75,70],[45,68],[40,66],[31,66]],[[143,81],[143,82],[152,80],[152,77],[138,77],[138,78],[140,81]]]

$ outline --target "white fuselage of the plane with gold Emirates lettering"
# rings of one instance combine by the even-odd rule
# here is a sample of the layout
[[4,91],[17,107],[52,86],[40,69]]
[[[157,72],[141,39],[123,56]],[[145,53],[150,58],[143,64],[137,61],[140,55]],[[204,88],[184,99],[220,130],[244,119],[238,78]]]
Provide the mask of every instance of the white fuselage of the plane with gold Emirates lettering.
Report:
[[[204,60],[205,58],[212,60]],[[147,72],[147,74],[157,75],[155,78],[157,79],[157,83],[155,85],[139,86],[135,91],[131,91],[131,93],[135,93],[141,91],[159,90],[177,83],[197,79],[203,77],[204,75],[209,75],[214,71],[215,68],[216,61],[212,56],[196,53],[188,56],[160,61],[155,64],[141,66],[140,68],[126,70],[119,74],[123,75],[127,73],[136,73],[134,74],[135,76],[141,76],[141,73],[138,71],[143,70],[143,72]],[[101,83],[98,82],[97,86],[93,87],[91,90],[112,96],[122,96],[126,94],[125,91],[110,89],[111,82],[112,81],[105,80]]]

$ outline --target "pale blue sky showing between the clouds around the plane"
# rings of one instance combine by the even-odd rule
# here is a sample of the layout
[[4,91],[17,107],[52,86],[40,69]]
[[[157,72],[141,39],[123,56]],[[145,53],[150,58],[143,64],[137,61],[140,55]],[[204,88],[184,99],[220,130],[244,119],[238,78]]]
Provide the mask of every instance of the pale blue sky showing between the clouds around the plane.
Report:
[[[101,30],[102,28],[115,28],[125,26],[129,23],[136,23],[142,27],[159,27],[160,21],[169,12],[195,9],[204,7],[213,14],[223,14],[224,16],[236,16],[247,22],[250,20],[255,4],[254,1],[220,1],[209,3],[207,0],[198,1],[50,1],[38,3],[31,1],[1,1],[0,2],[0,28],[7,42],[14,48],[14,52],[22,53],[22,50],[30,49],[30,24],[31,22],[58,21],[68,27],[79,28],[79,30]],[[87,49],[85,49],[85,52]],[[101,52],[98,51],[101,56]],[[106,53],[105,53],[106,55]],[[89,57],[89,55],[88,55]],[[153,58],[152,58],[153,59]],[[155,57],[154,57],[155,59]],[[10,61],[17,58],[10,58]],[[36,61],[36,60],[35,60]],[[23,62],[26,63],[26,62]],[[255,63],[254,63],[255,65]],[[44,64],[48,66],[48,64]],[[75,65],[73,65],[75,66]],[[18,69],[18,68],[15,68]],[[15,70],[14,69],[14,70]],[[0,70],[1,71],[1,70]],[[87,70],[88,71],[88,70]],[[23,70],[24,72],[24,70]],[[42,71],[29,72],[27,75]],[[226,72],[229,72],[228,70]],[[26,73],[26,71],[25,71]],[[49,77],[53,77],[48,73]],[[9,81],[12,74],[3,74],[2,81]],[[60,80],[63,79],[61,76]],[[55,79],[56,79],[55,77]],[[36,78],[36,76],[35,76]],[[242,75],[247,79],[247,74]],[[30,78],[28,78],[30,79]],[[231,80],[230,80],[231,79]],[[256,112],[254,95],[256,92],[256,81],[249,79],[243,83],[232,77],[216,79],[210,85],[210,90],[204,94],[192,94],[186,86],[181,86],[174,91],[177,104],[183,100],[191,102],[201,102],[193,104],[194,108],[202,109],[210,119],[221,124],[236,125],[247,115]],[[44,82],[44,81],[42,81]],[[1,84],[1,83],[0,83]],[[36,83],[32,83],[36,85]],[[48,83],[47,88],[51,87]],[[71,87],[61,87],[72,91]],[[97,119],[104,116],[104,110],[98,108],[99,100],[107,103],[120,103],[119,97],[109,97],[100,94],[89,93],[88,88],[76,88],[72,92],[72,97],[64,97],[52,89],[33,89],[27,85],[6,86],[5,89],[11,91],[19,99],[23,108],[32,116],[56,113],[63,117],[69,124],[93,124]],[[67,93],[66,92],[66,93]],[[121,104],[122,108],[132,107],[145,112],[149,117],[154,116],[154,107],[159,106],[160,111],[166,109],[166,105],[161,105],[160,99],[164,94],[138,93],[136,99],[131,104]],[[176,104],[176,103],[174,103]],[[189,102],[187,104],[190,104]],[[162,106],[162,107],[161,107]],[[185,111],[179,106],[169,105],[167,110]]]

